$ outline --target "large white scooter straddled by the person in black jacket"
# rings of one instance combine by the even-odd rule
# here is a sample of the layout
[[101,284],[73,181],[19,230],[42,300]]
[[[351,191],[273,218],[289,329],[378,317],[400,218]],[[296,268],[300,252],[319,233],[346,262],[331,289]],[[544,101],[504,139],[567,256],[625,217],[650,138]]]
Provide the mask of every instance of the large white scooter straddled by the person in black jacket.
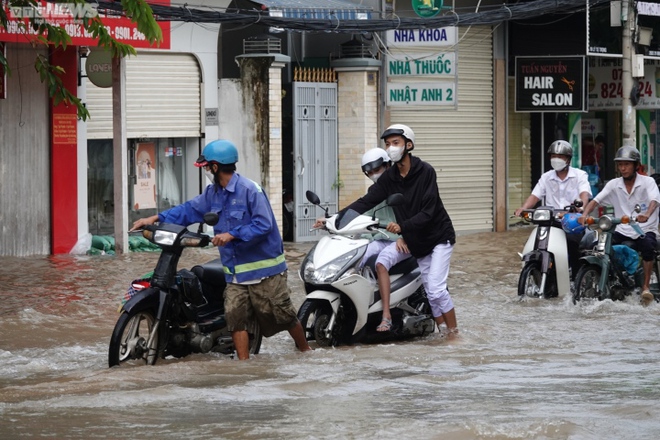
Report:
[[[311,191],[307,191],[307,200],[321,205]],[[396,206],[403,201],[402,194],[393,194],[387,204]],[[327,208],[324,210],[324,229],[329,235],[309,251],[299,273],[307,298],[298,310],[298,319],[307,339],[319,346],[335,346],[433,333],[435,321],[414,257],[390,270],[392,328],[376,331],[383,311],[375,275],[376,256],[359,266],[370,242],[363,235],[385,236],[381,231],[385,225],[380,225],[375,215],[348,210],[329,216]]]

